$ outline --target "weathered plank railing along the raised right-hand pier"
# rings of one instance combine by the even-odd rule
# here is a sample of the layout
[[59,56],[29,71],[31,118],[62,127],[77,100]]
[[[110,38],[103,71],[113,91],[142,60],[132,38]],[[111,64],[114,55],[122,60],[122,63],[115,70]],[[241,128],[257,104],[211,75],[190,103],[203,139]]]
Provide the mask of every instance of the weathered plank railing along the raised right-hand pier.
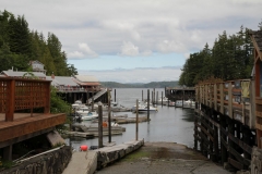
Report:
[[255,128],[254,80],[203,82],[195,86],[195,100]]

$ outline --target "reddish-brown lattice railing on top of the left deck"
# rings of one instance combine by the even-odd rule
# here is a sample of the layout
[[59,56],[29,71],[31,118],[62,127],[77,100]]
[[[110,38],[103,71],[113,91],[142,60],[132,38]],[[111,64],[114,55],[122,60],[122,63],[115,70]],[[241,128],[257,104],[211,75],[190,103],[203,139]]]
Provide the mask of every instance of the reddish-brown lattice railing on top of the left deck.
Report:
[[14,120],[19,110],[44,108],[50,112],[50,80],[0,77],[0,113]]

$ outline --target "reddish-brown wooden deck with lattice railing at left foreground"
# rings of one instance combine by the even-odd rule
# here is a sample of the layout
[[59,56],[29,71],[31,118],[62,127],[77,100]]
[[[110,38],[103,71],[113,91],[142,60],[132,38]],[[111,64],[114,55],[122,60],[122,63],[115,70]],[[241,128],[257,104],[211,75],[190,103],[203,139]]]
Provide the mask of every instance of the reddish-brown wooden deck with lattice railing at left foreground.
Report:
[[[0,156],[12,160],[12,147],[66,122],[50,114],[50,80],[0,77]],[[41,109],[43,113],[34,113]],[[29,111],[29,112],[28,112]]]

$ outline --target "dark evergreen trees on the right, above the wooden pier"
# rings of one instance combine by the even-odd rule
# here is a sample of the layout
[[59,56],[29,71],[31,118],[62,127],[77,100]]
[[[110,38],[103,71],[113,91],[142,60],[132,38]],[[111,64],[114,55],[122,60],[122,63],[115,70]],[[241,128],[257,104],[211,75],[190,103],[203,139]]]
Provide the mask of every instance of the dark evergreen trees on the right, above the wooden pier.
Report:
[[[259,29],[262,30],[262,22]],[[250,78],[253,61],[253,44],[248,28],[241,26],[233,35],[223,32],[213,48],[206,44],[203,50],[190,54],[181,70],[179,85],[192,87],[211,77],[223,80]]]

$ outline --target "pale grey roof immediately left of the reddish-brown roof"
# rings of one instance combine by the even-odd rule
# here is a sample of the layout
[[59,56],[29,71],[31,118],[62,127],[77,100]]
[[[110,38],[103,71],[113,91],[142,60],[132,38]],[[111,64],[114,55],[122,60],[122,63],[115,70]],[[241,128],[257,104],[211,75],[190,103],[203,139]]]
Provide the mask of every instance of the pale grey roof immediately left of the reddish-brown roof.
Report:
[[52,80],[51,85],[53,86],[79,86],[72,77],[66,77],[66,76],[55,76],[55,78],[51,78],[51,76],[47,76],[46,79]]

